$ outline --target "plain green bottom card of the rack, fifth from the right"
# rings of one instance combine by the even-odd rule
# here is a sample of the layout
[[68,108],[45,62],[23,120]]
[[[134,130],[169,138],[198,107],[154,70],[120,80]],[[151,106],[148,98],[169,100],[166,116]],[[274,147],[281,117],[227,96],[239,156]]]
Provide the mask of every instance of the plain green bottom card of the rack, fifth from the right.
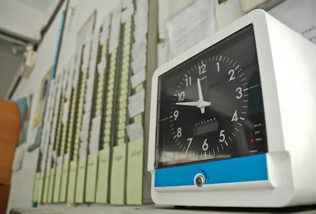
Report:
[[79,158],[78,161],[78,175],[76,181],[76,203],[83,203],[84,181],[85,181],[86,157]]

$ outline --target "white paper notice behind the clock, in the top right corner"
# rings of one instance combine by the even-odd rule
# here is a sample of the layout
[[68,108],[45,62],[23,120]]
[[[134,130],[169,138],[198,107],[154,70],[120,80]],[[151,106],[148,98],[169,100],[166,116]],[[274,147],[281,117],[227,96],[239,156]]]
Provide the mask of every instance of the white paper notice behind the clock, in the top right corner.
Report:
[[315,8],[316,0],[286,0],[268,13],[316,44]]

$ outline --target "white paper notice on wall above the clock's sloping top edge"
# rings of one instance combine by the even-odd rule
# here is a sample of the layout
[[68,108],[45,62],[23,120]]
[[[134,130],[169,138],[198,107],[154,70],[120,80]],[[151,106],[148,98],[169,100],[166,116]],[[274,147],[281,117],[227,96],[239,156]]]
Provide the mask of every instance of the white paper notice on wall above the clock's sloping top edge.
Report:
[[165,23],[169,59],[217,31],[214,0],[197,0]]

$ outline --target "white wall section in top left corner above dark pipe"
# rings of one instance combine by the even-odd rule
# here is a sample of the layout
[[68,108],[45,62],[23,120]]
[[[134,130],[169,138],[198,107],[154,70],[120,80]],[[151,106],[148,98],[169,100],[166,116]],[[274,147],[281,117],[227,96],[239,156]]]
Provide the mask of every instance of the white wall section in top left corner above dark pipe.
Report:
[[0,0],[0,29],[37,39],[44,25],[45,12],[18,0]]

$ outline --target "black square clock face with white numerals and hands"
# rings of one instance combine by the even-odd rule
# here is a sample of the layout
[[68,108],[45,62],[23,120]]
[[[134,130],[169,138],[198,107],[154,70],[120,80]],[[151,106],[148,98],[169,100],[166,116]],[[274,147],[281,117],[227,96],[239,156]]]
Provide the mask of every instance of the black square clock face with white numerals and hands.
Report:
[[268,151],[252,25],[158,81],[156,168]]

